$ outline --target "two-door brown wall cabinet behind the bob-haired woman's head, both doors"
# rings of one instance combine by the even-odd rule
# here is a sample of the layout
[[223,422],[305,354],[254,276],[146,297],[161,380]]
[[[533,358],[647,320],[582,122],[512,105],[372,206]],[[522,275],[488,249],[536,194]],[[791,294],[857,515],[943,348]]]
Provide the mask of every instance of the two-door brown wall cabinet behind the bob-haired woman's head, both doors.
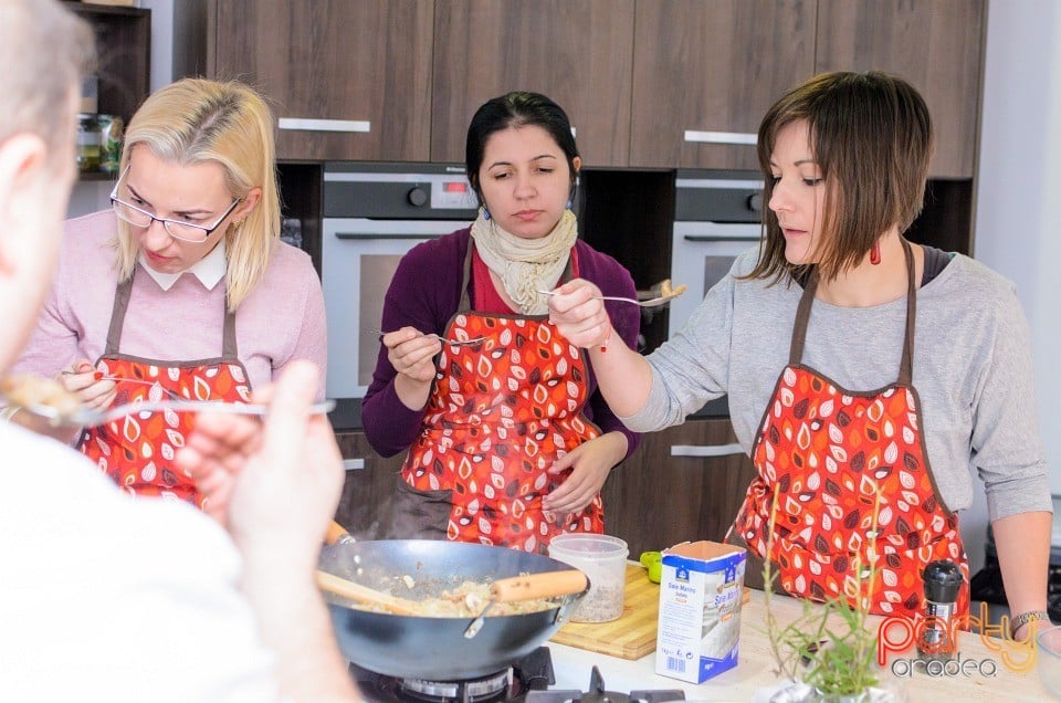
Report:
[[757,169],[755,133],[785,91],[816,73],[875,70],[901,75],[925,96],[936,128],[931,175],[971,178],[985,6],[639,0],[630,165]]

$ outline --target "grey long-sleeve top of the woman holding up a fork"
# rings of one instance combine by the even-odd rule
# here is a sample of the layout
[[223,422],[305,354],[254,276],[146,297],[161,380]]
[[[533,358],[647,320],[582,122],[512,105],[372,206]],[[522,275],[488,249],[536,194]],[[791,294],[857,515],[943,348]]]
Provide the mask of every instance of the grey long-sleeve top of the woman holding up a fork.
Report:
[[[659,430],[724,394],[733,428],[750,453],[777,377],[788,363],[802,288],[738,280],[757,249],[697,306],[685,328],[648,357],[652,389],[622,418]],[[841,388],[871,390],[896,380],[906,298],[866,308],[815,301],[802,361]],[[941,500],[950,511],[973,503],[971,469],[985,483],[991,521],[1050,511],[1039,437],[1028,323],[1015,286],[960,254],[917,291],[913,384]]]

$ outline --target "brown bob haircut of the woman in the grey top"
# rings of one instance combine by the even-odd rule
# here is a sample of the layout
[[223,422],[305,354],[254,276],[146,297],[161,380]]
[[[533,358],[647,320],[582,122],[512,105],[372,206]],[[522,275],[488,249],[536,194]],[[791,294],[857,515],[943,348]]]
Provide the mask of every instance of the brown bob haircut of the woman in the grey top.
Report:
[[[774,195],[770,155],[786,125],[807,120],[826,183],[818,274],[831,281],[861,262],[892,225],[905,232],[921,212],[932,157],[928,107],[906,81],[879,72],[817,75],[789,91],[759,125],[763,201]],[[764,211],[765,241],[749,279],[799,276],[785,259],[777,216]]]

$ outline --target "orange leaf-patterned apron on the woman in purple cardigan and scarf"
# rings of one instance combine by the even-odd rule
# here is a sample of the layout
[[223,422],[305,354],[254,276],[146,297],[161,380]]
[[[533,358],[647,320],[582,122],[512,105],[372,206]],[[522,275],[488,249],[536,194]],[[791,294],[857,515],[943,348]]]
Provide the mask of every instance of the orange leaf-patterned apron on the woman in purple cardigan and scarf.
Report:
[[555,535],[603,532],[599,494],[563,522],[542,508],[569,473],[548,473],[553,463],[600,436],[582,416],[589,376],[581,350],[546,318],[471,311],[470,271],[466,263],[445,336],[484,339],[442,344],[402,479],[424,494],[450,493],[450,541],[545,554]]

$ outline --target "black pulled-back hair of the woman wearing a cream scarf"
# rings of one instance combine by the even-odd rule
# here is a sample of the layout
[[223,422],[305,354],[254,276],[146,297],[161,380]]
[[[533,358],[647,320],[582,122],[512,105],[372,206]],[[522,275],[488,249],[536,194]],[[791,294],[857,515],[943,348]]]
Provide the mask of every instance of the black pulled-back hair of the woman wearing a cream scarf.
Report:
[[513,91],[483,103],[475,111],[475,115],[468,126],[464,161],[468,168],[468,180],[475,189],[475,196],[480,202],[483,201],[483,195],[479,186],[479,169],[483,165],[486,141],[495,132],[525,125],[534,125],[548,132],[553,140],[564,151],[567,157],[567,166],[571,177],[571,193],[574,195],[575,158],[578,156],[578,147],[575,146],[571,122],[567,118],[567,113],[540,93]]

